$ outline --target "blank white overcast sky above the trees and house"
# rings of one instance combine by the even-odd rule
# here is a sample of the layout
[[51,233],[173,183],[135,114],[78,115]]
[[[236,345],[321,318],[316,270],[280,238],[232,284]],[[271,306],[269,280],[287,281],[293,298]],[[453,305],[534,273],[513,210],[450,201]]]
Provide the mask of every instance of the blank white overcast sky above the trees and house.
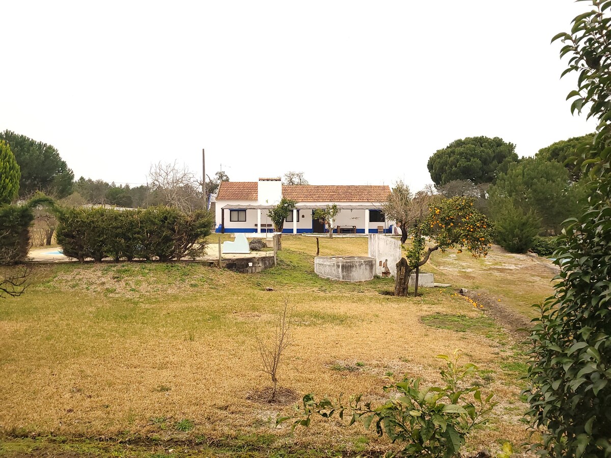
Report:
[[145,183],[174,161],[232,181],[430,183],[455,139],[520,156],[593,131],[572,117],[557,32],[573,0],[0,0],[0,130],[75,177]]

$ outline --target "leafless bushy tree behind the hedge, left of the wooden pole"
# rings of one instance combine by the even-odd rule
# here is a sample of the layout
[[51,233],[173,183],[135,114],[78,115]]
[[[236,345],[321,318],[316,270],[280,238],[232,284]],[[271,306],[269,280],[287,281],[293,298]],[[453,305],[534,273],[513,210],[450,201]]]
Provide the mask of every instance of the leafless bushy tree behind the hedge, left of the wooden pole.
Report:
[[186,212],[202,208],[200,182],[186,165],[180,167],[177,161],[152,164],[148,179],[150,189],[158,192],[166,205]]

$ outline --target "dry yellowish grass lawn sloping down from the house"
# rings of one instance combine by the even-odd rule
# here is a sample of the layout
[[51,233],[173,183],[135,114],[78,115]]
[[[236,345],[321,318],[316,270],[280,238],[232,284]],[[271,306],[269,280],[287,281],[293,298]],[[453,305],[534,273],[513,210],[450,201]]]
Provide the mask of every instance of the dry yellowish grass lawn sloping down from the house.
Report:
[[[367,254],[365,238],[320,238],[320,245],[321,255]],[[146,453],[162,456],[164,441],[177,440],[219,450],[237,442],[252,448],[249,456],[280,449],[375,456],[388,445],[362,426],[317,420],[291,436],[274,425],[290,413],[290,397],[284,405],[249,400],[270,384],[256,336],[271,336],[285,298],[295,325],[279,378],[298,398],[381,400],[391,374],[439,382],[434,357],[461,348],[479,368],[475,379],[501,401],[467,449],[524,442],[521,347],[483,309],[452,288],[405,299],[381,294],[392,280],[323,280],[313,274],[314,238],[284,236],[283,247],[279,267],[256,275],[194,263],[35,266],[27,294],[0,300],[0,455],[32,453],[32,439],[20,438],[50,434],[67,443],[137,437],[152,444]],[[551,294],[551,267],[499,249],[488,260],[434,253],[426,270],[523,314]]]

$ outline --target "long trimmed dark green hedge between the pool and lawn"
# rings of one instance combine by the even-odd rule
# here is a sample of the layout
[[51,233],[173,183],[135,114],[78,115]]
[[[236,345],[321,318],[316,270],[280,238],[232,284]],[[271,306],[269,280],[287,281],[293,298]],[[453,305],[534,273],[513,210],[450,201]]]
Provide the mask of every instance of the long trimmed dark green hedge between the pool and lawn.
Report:
[[205,250],[213,228],[205,211],[185,214],[164,206],[117,211],[107,208],[67,208],[59,211],[57,243],[64,255],[81,263],[86,258],[181,260]]

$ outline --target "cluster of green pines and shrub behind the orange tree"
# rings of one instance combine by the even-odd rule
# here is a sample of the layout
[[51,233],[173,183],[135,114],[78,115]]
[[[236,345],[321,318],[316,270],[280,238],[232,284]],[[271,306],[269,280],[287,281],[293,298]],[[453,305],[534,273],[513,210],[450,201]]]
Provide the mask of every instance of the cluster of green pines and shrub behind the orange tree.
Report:
[[496,242],[526,252],[539,236],[556,236],[579,213],[588,195],[578,148],[594,134],[573,137],[518,158],[499,137],[467,137],[437,150],[428,161],[437,192],[473,197],[475,208],[496,224]]

